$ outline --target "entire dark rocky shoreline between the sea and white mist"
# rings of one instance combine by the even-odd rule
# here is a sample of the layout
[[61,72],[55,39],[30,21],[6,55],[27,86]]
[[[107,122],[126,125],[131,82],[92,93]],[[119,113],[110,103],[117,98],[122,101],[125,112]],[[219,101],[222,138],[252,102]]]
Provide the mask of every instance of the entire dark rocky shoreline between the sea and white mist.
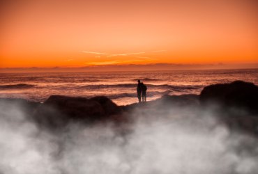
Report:
[[[1,116],[10,111],[22,111],[28,118],[41,127],[63,129],[69,123],[112,122],[121,127],[139,116],[165,116],[169,111],[210,111],[230,129],[258,133],[258,87],[244,81],[231,84],[207,86],[201,95],[164,95],[158,100],[142,104],[117,106],[104,96],[87,99],[84,97],[50,96],[43,104],[21,99],[0,99]],[[221,106],[214,110],[214,102]],[[200,104],[201,103],[201,104]],[[15,113],[16,114],[16,113]],[[15,115],[14,114],[14,115]],[[138,115],[137,115],[138,114]],[[191,114],[189,112],[189,114]],[[118,125],[117,124],[117,125]]]

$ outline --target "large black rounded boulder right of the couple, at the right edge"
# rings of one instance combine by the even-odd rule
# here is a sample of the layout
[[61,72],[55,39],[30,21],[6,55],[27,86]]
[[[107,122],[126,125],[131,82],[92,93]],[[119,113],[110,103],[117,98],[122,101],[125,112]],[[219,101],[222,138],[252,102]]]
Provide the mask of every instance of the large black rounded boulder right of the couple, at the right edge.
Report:
[[200,94],[200,101],[202,104],[216,102],[222,106],[236,106],[257,113],[258,86],[245,81],[206,86]]

